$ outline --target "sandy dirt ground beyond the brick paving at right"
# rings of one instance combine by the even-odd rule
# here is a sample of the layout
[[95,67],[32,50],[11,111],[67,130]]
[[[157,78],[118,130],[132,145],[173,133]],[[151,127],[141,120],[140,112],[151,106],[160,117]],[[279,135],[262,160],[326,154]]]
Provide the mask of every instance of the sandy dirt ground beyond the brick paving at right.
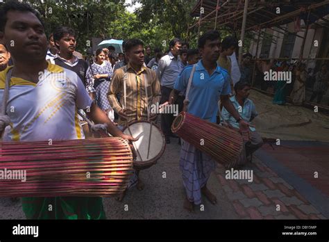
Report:
[[253,124],[262,137],[329,142],[328,115],[288,103],[272,104],[272,97],[256,90],[251,91],[249,98],[258,111]]

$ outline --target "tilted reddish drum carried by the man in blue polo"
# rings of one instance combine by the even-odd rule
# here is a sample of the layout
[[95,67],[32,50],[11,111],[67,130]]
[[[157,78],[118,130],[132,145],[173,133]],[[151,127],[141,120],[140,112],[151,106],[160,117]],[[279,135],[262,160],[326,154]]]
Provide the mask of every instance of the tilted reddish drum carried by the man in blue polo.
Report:
[[235,167],[243,151],[244,143],[239,132],[201,120],[189,113],[180,113],[171,131],[226,168]]

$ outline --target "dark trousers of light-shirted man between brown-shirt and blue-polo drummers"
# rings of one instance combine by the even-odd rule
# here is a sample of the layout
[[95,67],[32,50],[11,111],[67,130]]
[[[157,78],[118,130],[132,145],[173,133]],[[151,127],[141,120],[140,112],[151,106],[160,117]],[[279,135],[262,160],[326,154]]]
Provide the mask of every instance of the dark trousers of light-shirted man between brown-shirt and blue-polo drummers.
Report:
[[[171,88],[167,88],[165,86],[161,86],[161,104],[167,102],[169,100],[169,95],[171,92]],[[178,104],[179,111],[181,108],[183,108],[183,101],[184,98],[182,96],[178,97],[175,104]],[[179,104],[181,103],[181,104]],[[176,117],[174,116],[174,113],[162,113],[161,114],[161,129],[163,134],[165,134],[166,137],[169,137],[172,135],[171,132],[171,124],[173,123],[174,119]]]

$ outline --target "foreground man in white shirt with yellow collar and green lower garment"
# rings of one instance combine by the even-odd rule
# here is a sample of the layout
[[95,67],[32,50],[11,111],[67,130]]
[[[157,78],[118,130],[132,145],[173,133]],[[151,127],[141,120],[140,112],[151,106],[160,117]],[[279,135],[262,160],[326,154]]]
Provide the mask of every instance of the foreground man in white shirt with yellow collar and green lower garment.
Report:
[[[106,124],[112,136],[136,140],[94,104],[75,72],[46,61],[44,25],[27,3],[8,1],[1,6],[0,41],[15,63],[0,72],[0,136],[10,124],[3,140],[50,145],[49,140],[84,138],[77,110],[88,106],[90,118]],[[101,197],[22,197],[22,208],[28,219],[106,218]]]

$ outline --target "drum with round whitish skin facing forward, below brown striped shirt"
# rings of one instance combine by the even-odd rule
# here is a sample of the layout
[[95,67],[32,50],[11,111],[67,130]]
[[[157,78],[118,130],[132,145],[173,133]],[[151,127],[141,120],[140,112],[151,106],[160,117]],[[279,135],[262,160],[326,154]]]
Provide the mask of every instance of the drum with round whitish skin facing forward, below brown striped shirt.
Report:
[[124,134],[139,138],[133,143],[137,157],[134,168],[144,170],[153,166],[165,152],[166,142],[162,131],[147,121],[135,121],[128,124]]

